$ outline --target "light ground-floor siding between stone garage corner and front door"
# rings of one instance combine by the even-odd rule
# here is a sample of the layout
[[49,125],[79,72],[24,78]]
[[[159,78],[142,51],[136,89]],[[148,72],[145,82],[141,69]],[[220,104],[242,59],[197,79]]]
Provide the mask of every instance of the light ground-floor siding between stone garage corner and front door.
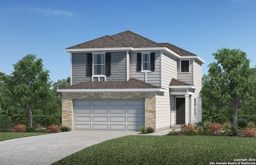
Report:
[[165,92],[163,95],[156,95],[156,128],[164,128],[170,126],[171,108],[170,94]]

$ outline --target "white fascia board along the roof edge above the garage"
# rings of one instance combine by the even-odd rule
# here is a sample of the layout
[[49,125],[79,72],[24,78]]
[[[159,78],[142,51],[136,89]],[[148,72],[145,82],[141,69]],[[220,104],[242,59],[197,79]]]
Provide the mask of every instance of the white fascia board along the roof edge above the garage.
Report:
[[168,92],[167,89],[149,88],[149,89],[57,89],[57,92],[63,93],[88,93],[88,92]]

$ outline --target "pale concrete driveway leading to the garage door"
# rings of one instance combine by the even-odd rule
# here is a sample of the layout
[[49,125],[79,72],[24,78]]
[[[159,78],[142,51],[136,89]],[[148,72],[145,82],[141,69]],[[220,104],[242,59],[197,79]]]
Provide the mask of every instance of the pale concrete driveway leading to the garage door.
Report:
[[0,141],[0,164],[50,165],[90,145],[138,133],[71,131]]

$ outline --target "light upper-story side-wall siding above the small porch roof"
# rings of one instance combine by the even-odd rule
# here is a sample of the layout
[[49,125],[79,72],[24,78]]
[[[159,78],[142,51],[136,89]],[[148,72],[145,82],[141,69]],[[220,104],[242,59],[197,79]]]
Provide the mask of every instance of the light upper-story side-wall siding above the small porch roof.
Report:
[[162,88],[169,89],[172,78],[177,79],[177,60],[166,53],[163,53]]

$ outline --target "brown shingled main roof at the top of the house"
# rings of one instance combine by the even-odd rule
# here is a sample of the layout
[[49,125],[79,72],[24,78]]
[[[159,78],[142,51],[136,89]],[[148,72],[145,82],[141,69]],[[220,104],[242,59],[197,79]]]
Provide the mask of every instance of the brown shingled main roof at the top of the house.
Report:
[[114,35],[105,35],[103,37],[93,39],[66,49],[97,49],[97,48],[117,48],[117,47],[133,47],[133,48],[150,48],[150,47],[167,47],[180,56],[196,56],[180,47],[170,43],[156,43],[148,38],[138,35],[132,31],[123,31]]

